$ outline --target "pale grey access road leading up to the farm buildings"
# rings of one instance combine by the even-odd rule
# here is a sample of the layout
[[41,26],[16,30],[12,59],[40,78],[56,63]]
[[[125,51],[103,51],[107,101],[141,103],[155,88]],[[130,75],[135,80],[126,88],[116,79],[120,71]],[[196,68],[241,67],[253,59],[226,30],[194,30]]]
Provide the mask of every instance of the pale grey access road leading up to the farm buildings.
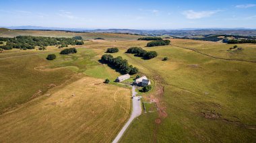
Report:
[[[132,96],[136,95],[136,91],[135,91],[135,86],[133,86],[132,88]],[[135,119],[135,117],[141,115],[141,101],[139,100],[139,97],[133,97],[133,111],[131,112],[131,117],[129,118],[129,120],[127,121],[127,123],[125,124],[125,126],[123,126],[122,130],[119,132],[119,134],[117,134],[117,137],[115,138],[115,140],[113,140],[113,143],[117,143],[119,142],[119,140],[121,139],[121,137],[123,136],[123,134],[125,134],[125,131],[127,130],[127,128],[129,127],[129,125],[131,124],[131,122]]]

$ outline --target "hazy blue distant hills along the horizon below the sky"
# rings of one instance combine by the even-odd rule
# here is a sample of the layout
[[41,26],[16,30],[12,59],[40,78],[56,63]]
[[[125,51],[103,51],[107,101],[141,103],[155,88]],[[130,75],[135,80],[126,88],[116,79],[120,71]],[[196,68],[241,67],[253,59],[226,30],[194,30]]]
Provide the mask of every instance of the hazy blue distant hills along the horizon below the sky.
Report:
[[241,36],[256,36],[256,29],[250,28],[183,28],[168,30],[130,30],[130,29],[86,29],[86,28],[48,28],[41,26],[0,26],[11,30],[63,30],[71,32],[105,32],[105,33],[127,33],[146,36],[201,36],[209,34],[228,34]]

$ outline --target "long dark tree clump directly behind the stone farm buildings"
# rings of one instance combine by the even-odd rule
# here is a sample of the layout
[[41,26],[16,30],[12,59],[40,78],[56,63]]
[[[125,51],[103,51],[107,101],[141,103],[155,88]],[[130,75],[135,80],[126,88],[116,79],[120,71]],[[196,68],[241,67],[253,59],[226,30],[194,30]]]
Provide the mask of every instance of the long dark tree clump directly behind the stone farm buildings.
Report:
[[114,58],[111,54],[104,54],[101,57],[101,60],[117,68],[121,73],[129,73],[130,75],[134,75],[135,73],[139,72],[138,68],[129,65],[127,60],[123,59],[121,56]]

